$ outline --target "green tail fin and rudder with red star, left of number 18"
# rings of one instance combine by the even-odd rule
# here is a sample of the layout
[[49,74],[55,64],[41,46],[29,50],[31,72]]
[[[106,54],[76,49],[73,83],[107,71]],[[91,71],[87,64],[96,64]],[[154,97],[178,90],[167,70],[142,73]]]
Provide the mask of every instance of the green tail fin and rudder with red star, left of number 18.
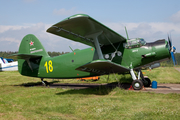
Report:
[[49,57],[41,42],[33,34],[26,35],[20,44],[18,71],[25,76],[38,76],[39,66],[43,57]]

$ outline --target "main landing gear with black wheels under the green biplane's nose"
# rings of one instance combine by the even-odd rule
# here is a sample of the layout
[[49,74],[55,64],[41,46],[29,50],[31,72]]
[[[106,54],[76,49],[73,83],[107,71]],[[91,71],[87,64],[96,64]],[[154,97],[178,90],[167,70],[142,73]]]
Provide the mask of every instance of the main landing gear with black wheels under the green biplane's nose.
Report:
[[[151,80],[147,77],[144,77],[141,70],[137,71],[138,77],[136,77],[133,69],[130,69],[130,74],[132,76],[133,82],[132,87],[134,90],[141,90],[144,87],[150,87]],[[141,78],[141,79],[140,79]]]

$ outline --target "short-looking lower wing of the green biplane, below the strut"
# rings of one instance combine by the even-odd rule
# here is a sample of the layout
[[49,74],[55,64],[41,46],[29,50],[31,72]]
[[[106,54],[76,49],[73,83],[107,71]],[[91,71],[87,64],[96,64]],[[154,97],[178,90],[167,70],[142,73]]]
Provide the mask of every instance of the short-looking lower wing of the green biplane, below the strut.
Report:
[[110,73],[125,73],[129,69],[119,64],[110,62],[108,60],[95,60],[86,65],[80,66],[76,70],[92,72],[99,75],[110,74]]

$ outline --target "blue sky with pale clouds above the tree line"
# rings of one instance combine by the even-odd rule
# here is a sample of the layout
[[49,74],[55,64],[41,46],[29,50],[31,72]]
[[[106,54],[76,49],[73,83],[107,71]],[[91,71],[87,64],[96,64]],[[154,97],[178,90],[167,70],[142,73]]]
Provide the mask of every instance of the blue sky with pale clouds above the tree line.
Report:
[[180,0],[0,0],[0,51],[18,51],[23,37],[34,34],[46,51],[71,52],[89,46],[46,30],[61,20],[87,14],[118,34],[147,42],[171,34],[180,52]]

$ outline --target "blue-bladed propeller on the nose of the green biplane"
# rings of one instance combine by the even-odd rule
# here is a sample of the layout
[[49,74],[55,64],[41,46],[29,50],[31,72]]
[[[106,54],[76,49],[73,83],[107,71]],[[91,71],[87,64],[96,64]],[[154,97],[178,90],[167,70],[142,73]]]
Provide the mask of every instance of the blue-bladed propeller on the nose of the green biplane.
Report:
[[169,42],[169,48],[170,48],[169,52],[171,53],[171,57],[172,57],[172,60],[173,60],[174,66],[175,66],[177,64],[176,58],[175,58],[175,55],[174,55],[174,52],[176,51],[176,48],[172,45],[172,40],[169,37],[169,35],[168,35],[168,42]]

